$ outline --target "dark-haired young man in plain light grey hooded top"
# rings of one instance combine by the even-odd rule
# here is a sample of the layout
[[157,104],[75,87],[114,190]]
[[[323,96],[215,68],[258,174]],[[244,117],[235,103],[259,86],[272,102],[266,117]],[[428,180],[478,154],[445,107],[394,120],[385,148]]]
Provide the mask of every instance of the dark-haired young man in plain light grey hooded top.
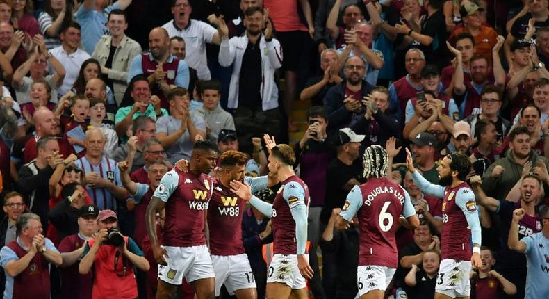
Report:
[[206,138],[213,142],[218,140],[219,132],[223,129],[234,130],[234,120],[231,113],[224,111],[219,104],[221,99],[221,83],[219,81],[206,81],[201,86],[200,98],[204,104],[194,112],[206,122]]

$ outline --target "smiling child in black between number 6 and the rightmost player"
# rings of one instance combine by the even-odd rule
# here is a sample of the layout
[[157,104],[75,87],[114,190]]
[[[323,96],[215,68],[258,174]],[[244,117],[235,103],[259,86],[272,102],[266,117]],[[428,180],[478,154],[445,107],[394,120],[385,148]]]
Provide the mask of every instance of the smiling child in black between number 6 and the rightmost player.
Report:
[[441,264],[441,254],[436,250],[428,250],[423,254],[422,269],[412,264],[410,272],[404,277],[404,282],[408,286],[406,293],[409,299],[434,298],[439,264]]

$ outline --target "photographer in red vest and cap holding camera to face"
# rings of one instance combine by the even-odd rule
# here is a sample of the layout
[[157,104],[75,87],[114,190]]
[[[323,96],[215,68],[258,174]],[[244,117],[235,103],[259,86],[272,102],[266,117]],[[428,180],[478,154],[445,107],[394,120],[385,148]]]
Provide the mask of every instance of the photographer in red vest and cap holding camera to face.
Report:
[[118,232],[115,212],[100,211],[97,226],[99,232],[85,245],[79,266],[82,275],[94,266],[92,298],[137,298],[133,266],[147,271],[149,262],[136,242]]

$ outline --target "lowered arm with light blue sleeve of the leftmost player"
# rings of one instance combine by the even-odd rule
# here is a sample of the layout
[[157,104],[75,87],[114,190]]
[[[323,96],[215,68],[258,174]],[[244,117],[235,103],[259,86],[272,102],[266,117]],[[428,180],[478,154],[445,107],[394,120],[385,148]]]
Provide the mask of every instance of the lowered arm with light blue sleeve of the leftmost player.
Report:
[[167,265],[164,259],[166,255],[165,249],[158,244],[158,236],[156,236],[156,213],[160,213],[164,209],[165,203],[168,198],[174,193],[179,182],[179,175],[175,170],[166,172],[162,177],[160,184],[154,191],[151,197],[151,202],[147,206],[145,212],[145,225],[147,227],[147,234],[151,239],[151,248],[153,250],[153,256],[158,264]]

